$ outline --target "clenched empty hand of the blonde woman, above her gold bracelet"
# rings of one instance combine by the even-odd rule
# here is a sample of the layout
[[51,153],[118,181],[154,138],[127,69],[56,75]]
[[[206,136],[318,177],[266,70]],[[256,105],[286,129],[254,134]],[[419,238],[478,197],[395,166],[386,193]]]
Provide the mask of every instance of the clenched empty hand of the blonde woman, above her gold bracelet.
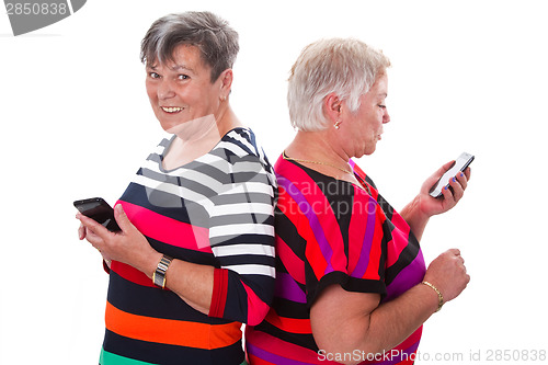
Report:
[[470,282],[460,251],[450,249],[438,255],[429,265],[424,281],[442,292],[444,301],[455,299]]

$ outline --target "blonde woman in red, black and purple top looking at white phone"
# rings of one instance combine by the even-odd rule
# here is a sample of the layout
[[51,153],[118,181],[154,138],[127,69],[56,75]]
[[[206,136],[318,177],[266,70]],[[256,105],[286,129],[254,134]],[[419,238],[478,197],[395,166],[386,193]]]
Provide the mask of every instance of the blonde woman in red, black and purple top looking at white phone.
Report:
[[250,364],[409,364],[422,324],[469,282],[456,249],[426,270],[419,241],[429,218],[463,197],[470,170],[397,213],[352,160],[372,155],[390,122],[383,53],[355,39],[307,46],[293,66],[288,104],[298,129],[274,167],[276,289],[265,320],[247,330]]

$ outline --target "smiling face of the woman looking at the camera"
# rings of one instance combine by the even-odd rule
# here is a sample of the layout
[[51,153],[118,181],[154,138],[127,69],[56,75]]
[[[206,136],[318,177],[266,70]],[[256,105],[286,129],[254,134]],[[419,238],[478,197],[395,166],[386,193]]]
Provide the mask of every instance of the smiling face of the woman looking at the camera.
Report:
[[173,60],[147,65],[146,87],[150,104],[164,130],[217,113],[220,105],[220,77],[210,81],[196,46],[180,45]]

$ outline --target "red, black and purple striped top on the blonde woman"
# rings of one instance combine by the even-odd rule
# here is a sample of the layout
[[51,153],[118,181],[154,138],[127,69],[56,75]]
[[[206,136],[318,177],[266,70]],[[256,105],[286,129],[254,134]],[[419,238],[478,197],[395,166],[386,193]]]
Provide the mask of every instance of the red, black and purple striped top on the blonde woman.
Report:
[[327,354],[312,337],[310,307],[327,286],[378,293],[387,301],[421,283],[425,273],[409,225],[351,166],[363,186],[282,157],[276,162],[276,289],[265,320],[247,328],[250,364],[338,364],[343,356],[370,364],[413,363],[422,328],[385,356],[357,350]]

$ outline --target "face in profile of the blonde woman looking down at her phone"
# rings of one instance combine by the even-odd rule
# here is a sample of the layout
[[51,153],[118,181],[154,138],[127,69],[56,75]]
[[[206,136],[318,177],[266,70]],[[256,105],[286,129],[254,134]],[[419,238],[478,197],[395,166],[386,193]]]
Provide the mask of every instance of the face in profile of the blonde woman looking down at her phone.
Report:
[[[359,107],[356,112],[346,112],[346,121],[343,119],[346,130],[346,139],[351,141],[350,156],[362,157],[372,155],[377,141],[383,135],[383,125],[390,122],[385,100],[388,95],[388,78],[381,75],[367,93],[359,98]],[[341,128],[342,129],[342,128]]]

